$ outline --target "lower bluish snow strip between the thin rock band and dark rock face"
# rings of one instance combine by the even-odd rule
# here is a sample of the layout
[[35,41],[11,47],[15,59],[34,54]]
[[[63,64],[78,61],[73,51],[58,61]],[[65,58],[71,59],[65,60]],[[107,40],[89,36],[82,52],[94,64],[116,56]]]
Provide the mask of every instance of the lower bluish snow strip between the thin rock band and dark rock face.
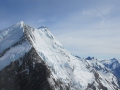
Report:
[[15,60],[22,57],[26,52],[30,50],[30,48],[31,45],[28,42],[24,42],[21,45],[10,48],[10,50],[0,58],[0,70],[9,65],[11,62],[14,62]]

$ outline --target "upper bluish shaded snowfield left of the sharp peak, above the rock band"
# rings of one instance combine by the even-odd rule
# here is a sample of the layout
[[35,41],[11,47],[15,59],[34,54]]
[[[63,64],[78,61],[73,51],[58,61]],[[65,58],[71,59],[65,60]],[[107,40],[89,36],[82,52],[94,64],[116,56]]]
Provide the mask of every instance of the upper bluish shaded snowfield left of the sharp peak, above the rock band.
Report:
[[23,22],[19,22],[0,32],[0,53],[15,44],[23,36]]

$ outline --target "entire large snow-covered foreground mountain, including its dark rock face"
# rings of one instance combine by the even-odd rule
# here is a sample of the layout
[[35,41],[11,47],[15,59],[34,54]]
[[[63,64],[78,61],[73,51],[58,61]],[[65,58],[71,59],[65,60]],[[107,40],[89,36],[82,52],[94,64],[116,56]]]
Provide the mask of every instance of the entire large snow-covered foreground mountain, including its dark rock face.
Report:
[[118,90],[114,75],[104,75],[46,27],[19,22],[0,31],[0,90]]

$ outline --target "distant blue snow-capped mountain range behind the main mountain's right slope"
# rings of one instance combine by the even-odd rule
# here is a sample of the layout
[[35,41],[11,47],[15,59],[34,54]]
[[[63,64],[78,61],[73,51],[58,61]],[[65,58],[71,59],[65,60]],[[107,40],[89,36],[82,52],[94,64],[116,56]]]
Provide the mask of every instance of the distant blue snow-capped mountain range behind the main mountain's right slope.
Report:
[[[120,86],[120,61],[118,59],[113,58],[113,59],[109,59],[109,60],[99,60],[98,61],[94,57],[89,56],[86,58],[86,60],[89,64],[91,64],[91,66],[93,68],[95,68],[103,76],[107,75],[108,72],[112,73],[116,77],[118,85]],[[109,76],[110,75],[107,75],[107,78]]]

